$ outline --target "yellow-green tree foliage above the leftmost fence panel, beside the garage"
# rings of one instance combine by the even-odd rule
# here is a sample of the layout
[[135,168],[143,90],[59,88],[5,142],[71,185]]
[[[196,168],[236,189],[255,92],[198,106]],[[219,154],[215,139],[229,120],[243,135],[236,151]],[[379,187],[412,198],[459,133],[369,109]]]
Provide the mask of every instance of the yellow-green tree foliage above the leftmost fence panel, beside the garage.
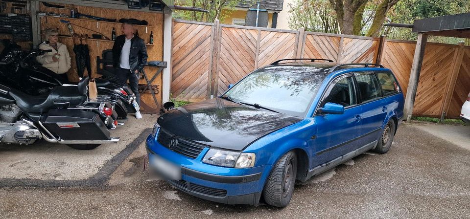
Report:
[[[176,5],[188,7],[198,7],[206,9],[209,13],[174,10],[173,18],[199,22],[214,22],[218,19],[220,22],[230,16],[234,7],[240,0],[176,0]],[[253,2],[252,0],[244,0],[245,2]]]

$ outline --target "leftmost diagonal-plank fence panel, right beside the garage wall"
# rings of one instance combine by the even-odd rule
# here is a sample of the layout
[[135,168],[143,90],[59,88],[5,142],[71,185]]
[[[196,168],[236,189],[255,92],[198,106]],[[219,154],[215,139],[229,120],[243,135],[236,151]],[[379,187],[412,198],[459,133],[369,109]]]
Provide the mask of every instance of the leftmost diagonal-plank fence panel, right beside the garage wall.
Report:
[[211,25],[173,22],[173,97],[206,98],[210,63]]

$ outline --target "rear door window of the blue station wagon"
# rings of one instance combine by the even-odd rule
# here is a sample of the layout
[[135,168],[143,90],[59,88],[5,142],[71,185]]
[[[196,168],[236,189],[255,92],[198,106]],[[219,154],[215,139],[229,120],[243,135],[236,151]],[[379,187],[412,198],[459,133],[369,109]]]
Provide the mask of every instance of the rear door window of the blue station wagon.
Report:
[[367,102],[382,96],[380,88],[373,73],[355,73],[357,87],[361,95],[362,102]]

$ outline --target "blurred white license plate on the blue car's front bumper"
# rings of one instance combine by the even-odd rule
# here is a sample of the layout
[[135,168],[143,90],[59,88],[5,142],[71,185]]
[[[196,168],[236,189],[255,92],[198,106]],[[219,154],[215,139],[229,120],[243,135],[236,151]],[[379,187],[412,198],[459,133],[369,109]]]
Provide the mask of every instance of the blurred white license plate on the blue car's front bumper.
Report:
[[164,179],[181,180],[181,166],[175,165],[159,155],[152,155],[152,168]]

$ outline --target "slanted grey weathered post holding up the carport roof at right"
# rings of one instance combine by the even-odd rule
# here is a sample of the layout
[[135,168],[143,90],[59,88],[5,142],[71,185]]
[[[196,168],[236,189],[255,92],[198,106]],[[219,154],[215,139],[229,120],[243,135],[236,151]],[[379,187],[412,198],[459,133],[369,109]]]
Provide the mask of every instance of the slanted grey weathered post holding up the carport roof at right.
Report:
[[411,66],[410,81],[408,82],[408,90],[406,91],[405,106],[403,109],[405,119],[409,123],[411,122],[411,114],[413,113],[413,106],[415,104],[416,91],[420,81],[421,66],[423,65],[426,41],[426,34],[418,34],[415,55],[413,56],[413,65]]

